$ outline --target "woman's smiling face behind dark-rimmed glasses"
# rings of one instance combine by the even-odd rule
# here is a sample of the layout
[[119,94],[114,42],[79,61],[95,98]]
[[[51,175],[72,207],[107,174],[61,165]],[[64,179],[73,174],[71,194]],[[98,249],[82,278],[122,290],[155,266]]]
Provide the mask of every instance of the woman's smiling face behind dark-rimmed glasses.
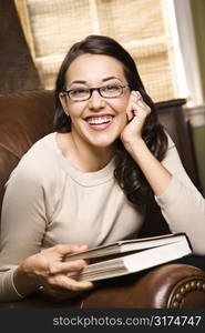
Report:
[[[120,61],[90,53],[73,60],[65,80],[66,90],[127,84]],[[71,117],[71,132],[75,142],[86,142],[95,148],[112,145],[127,123],[129,97],[130,89],[123,89],[120,97],[111,99],[101,97],[96,90],[85,101],[72,101],[68,95],[60,95],[64,111]]]

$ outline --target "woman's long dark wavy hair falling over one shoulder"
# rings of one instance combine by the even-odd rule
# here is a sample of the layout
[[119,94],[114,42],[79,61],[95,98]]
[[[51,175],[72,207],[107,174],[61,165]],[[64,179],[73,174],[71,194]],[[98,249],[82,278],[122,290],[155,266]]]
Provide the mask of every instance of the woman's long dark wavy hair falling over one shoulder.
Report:
[[[131,90],[140,91],[144,102],[151,108],[151,113],[143,127],[142,137],[156,159],[162,161],[167,150],[167,138],[162,125],[157,123],[155,104],[146,93],[130,53],[115,40],[105,36],[89,36],[81,42],[74,43],[65,56],[55,85],[55,130],[61,133],[71,131],[71,120],[62,109],[59,93],[65,89],[65,73],[71,62],[84,53],[110,56],[122,63]],[[134,204],[145,203],[153,192],[143,172],[127,153],[120,139],[116,140],[115,163],[114,176],[127,199]]]

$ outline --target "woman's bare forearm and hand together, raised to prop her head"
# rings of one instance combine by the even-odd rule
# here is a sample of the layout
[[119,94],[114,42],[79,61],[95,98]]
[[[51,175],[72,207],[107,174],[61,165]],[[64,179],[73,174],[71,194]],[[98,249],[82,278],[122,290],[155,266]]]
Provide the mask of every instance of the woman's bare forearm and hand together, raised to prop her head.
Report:
[[162,195],[171,182],[172,174],[154,157],[142,138],[144,122],[151,108],[142,100],[137,91],[132,91],[126,108],[129,123],[121,133],[121,140],[142,170],[156,196]]

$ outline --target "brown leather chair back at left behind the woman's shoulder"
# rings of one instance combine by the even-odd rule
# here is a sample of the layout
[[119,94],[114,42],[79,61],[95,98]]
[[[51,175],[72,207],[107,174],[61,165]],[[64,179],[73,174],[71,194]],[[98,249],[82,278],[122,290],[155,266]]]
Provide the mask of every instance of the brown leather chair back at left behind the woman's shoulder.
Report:
[[0,212],[4,184],[21,157],[53,131],[53,91],[0,95]]

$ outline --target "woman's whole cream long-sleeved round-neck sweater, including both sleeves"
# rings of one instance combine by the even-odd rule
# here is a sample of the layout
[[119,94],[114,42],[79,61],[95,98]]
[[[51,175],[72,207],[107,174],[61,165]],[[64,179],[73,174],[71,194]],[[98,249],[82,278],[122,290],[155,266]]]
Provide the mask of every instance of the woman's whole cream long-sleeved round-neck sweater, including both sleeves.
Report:
[[[172,232],[186,232],[194,252],[205,254],[205,201],[186,175],[170,138],[163,164],[173,178],[156,202]],[[0,301],[20,297],[12,272],[43,248],[58,243],[95,246],[137,236],[144,209],[126,200],[113,170],[113,160],[96,172],[74,169],[59,150],[55,133],[29,150],[7,183],[1,219]]]

